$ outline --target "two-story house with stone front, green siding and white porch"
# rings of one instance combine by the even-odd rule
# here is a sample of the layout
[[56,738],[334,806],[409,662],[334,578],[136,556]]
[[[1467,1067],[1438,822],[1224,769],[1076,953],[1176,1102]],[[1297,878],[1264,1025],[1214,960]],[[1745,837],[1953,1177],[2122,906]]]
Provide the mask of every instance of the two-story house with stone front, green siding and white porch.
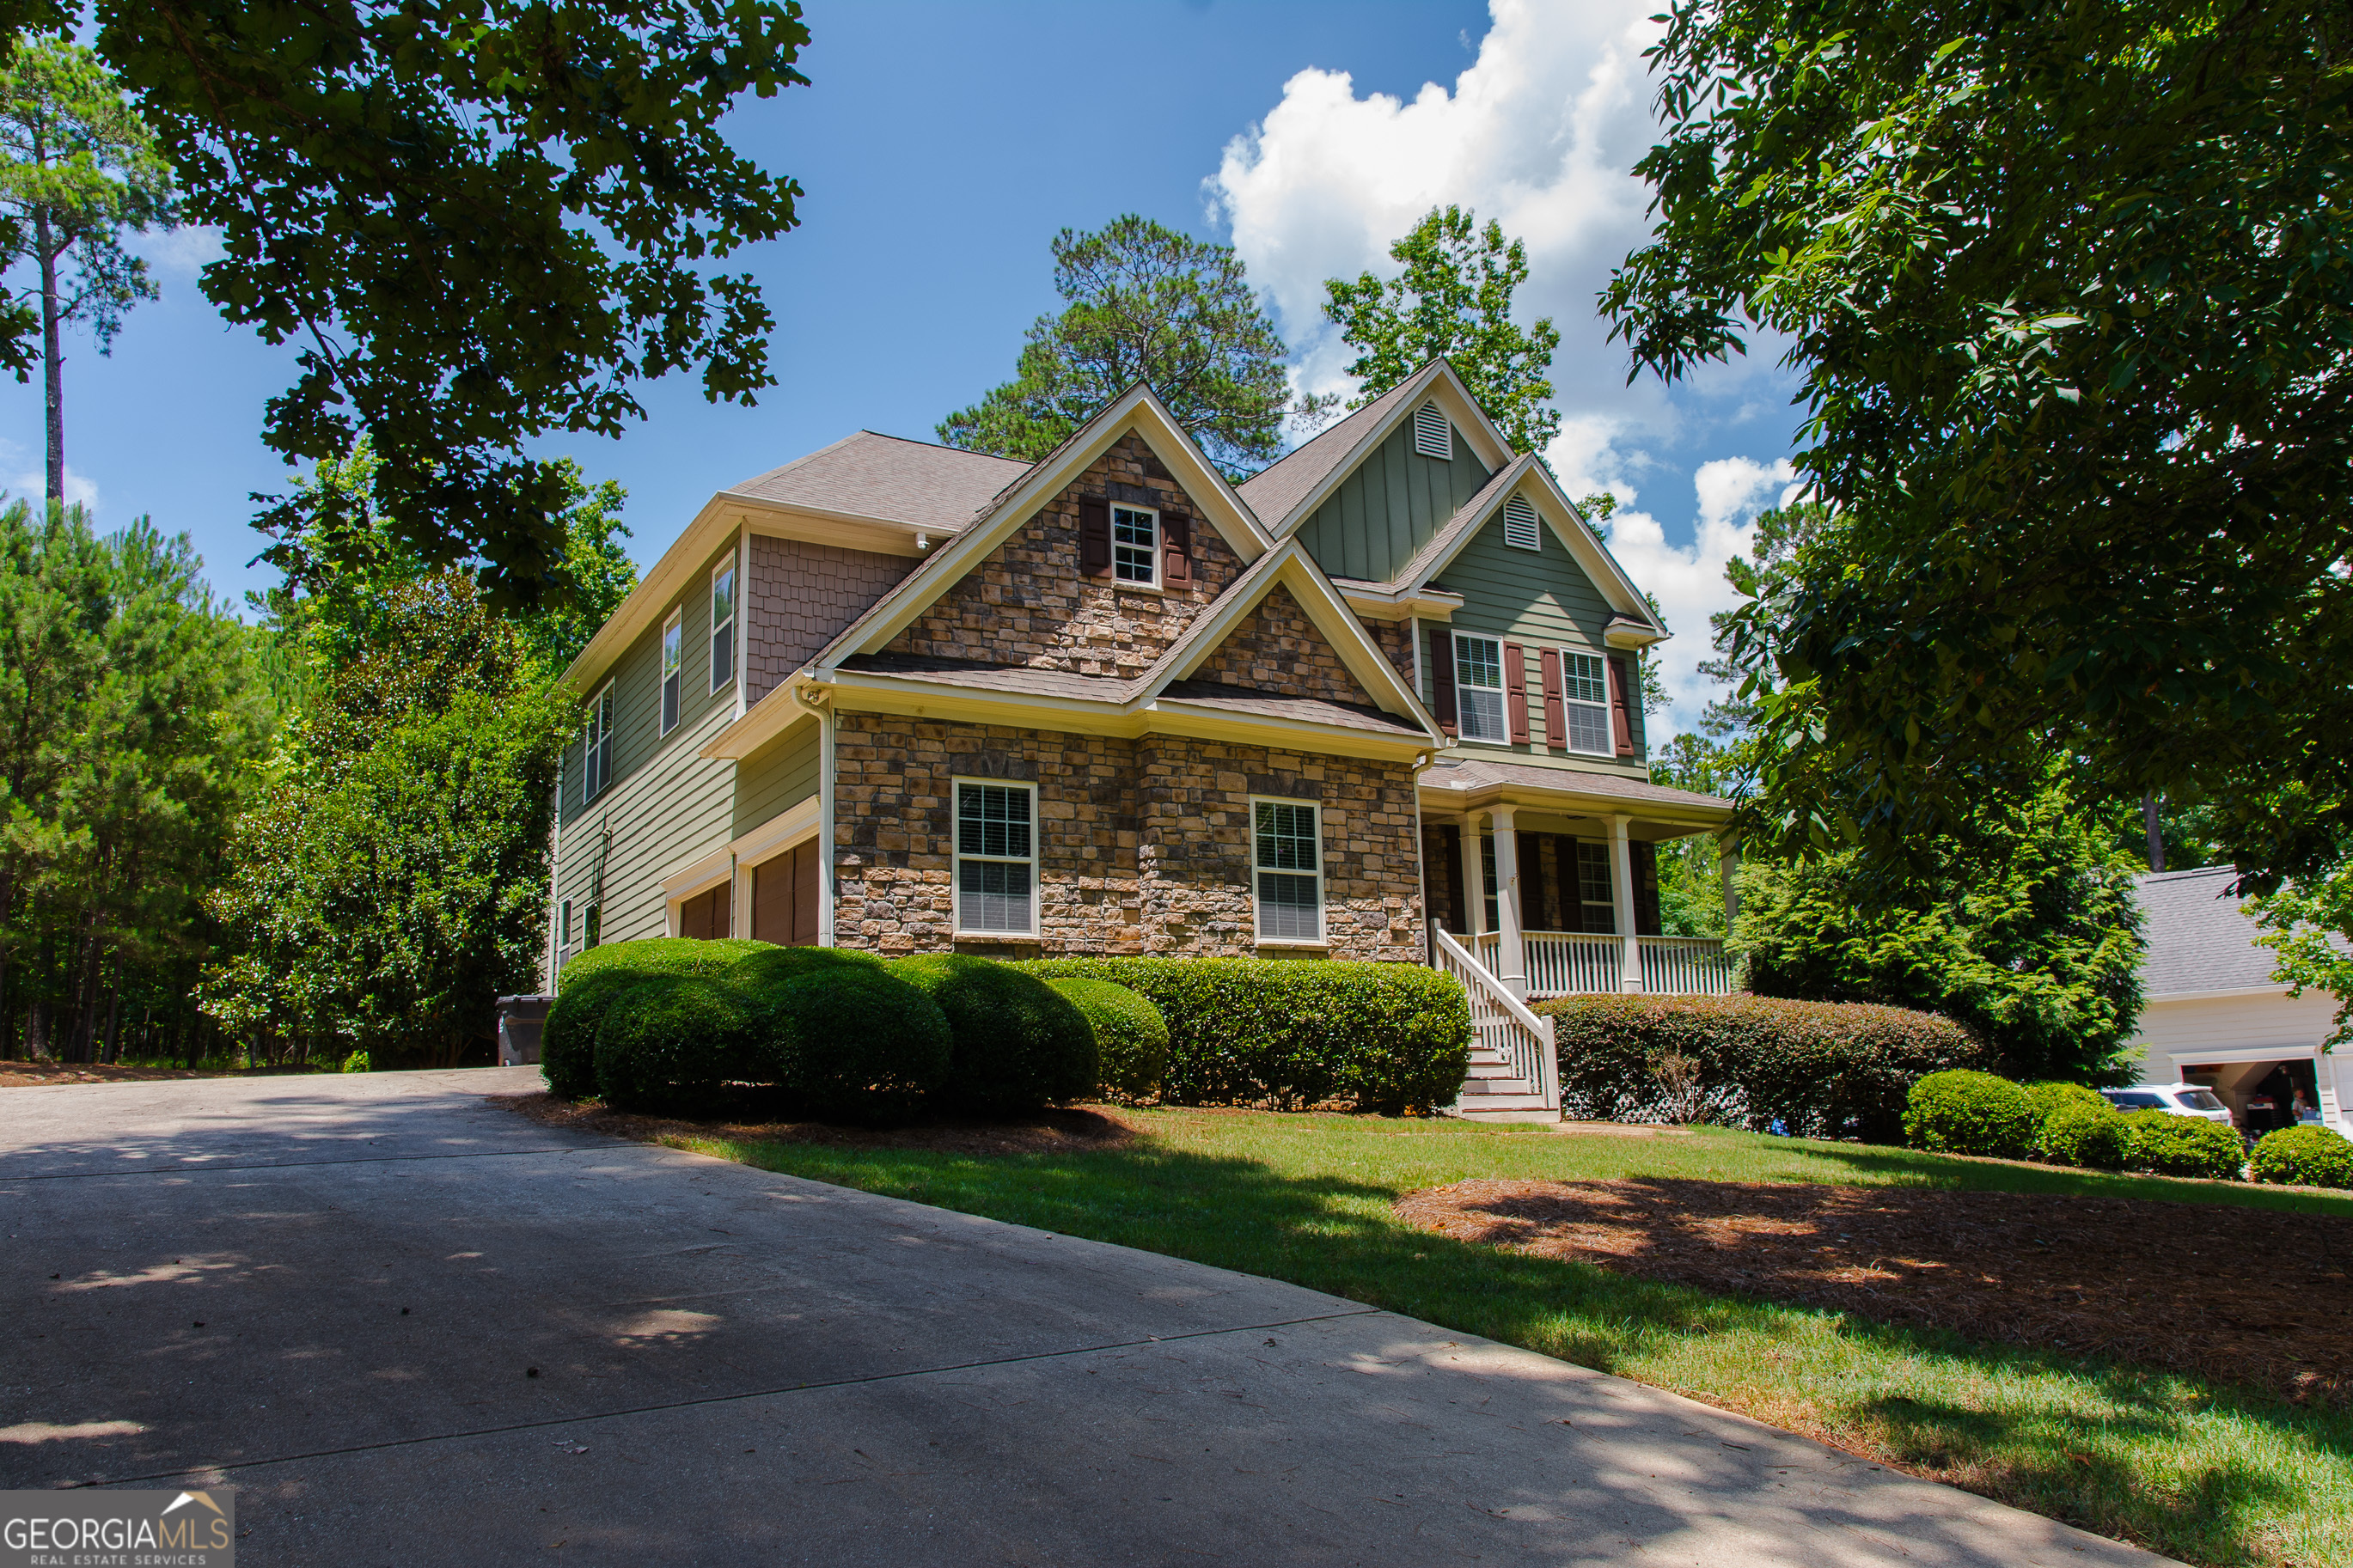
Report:
[[1529,997],[1729,985],[1659,936],[1657,842],[1729,818],[1649,783],[1664,637],[1442,360],[1240,487],[1141,386],[1040,463],[859,433],[711,496],[565,675],[548,964],[1442,961],[1541,1103]]

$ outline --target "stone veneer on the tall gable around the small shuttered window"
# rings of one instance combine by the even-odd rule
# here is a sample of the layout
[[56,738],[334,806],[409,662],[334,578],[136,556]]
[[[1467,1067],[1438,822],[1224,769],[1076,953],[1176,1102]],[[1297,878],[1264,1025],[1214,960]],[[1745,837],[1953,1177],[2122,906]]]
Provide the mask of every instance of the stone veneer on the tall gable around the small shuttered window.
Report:
[[[1078,498],[1108,484],[1148,489],[1193,517],[1193,581],[1139,592],[1078,569]],[[948,588],[885,651],[986,658],[1071,675],[1141,675],[1233,578],[1240,557],[1219,538],[1134,433],[1122,435],[988,559]]]

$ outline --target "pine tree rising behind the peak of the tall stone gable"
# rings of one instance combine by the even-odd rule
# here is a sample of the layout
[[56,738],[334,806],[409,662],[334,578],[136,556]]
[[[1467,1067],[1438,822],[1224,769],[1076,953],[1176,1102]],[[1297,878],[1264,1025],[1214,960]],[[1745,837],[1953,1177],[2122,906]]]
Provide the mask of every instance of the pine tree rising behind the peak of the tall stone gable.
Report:
[[1231,244],[1125,214],[1054,235],[1061,315],[1031,322],[1014,378],[939,421],[939,440],[1035,463],[1144,381],[1209,461],[1240,475],[1282,451],[1289,350]]

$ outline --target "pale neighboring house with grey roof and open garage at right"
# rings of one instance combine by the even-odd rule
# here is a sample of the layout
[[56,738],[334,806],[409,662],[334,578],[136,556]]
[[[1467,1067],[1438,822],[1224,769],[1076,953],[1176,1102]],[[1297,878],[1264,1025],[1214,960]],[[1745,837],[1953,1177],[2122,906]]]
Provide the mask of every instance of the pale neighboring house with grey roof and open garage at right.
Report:
[[2134,1048],[2144,1079],[2205,1084],[2240,1126],[2249,1098],[2301,1091],[2327,1126],[2353,1135],[2353,1063],[2320,1048],[2337,1027],[2337,997],[2289,997],[2271,978],[2273,952],[2254,945],[2235,884],[2228,865],[2139,879],[2148,999]]

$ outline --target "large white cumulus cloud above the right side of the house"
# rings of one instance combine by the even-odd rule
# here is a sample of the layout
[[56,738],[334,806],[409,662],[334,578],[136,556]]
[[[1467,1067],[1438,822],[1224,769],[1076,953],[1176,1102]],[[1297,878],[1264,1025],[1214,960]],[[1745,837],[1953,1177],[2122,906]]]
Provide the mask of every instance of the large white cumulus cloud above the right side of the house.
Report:
[[[1572,496],[1617,496],[1612,548],[1675,628],[1661,649],[1668,717],[1689,726],[1711,696],[1697,670],[1708,614],[1732,599],[1725,557],[1748,548],[1755,512],[1791,482],[1772,423],[1788,395],[1769,353],[1673,390],[1654,376],[1628,386],[1626,350],[1595,313],[1609,268],[1649,233],[1649,188],[1631,169],[1657,139],[1642,61],[1659,35],[1654,0],[1492,0],[1489,12],[1478,59],[1452,87],[1358,96],[1346,73],[1297,73],[1226,146],[1207,200],[1273,299],[1306,390],[1346,390],[1341,367],[1355,357],[1322,320],[1327,277],[1393,275],[1388,244],[1447,202],[1525,240],[1520,315],[1560,327],[1562,425],[1546,458]],[[1741,456],[1718,456],[1727,451]],[[1694,465],[1701,456],[1711,461]],[[1685,475],[1697,512],[1673,520],[1689,536],[1671,543],[1666,522],[1631,508],[1645,484],[1680,501]]]

